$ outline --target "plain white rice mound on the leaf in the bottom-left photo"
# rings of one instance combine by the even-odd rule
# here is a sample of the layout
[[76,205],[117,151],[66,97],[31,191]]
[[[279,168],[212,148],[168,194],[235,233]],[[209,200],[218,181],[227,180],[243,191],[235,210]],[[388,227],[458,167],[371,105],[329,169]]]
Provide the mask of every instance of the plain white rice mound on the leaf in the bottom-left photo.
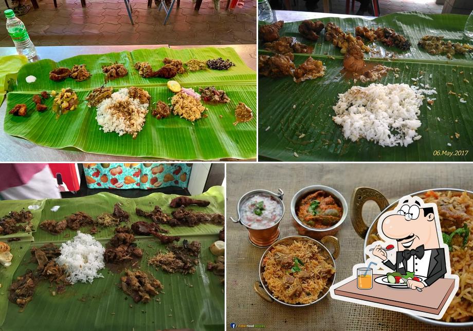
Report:
[[76,237],[61,245],[61,255],[56,262],[65,267],[71,284],[92,283],[94,278],[103,278],[97,271],[105,267],[104,251],[105,248],[94,237],[77,231]]

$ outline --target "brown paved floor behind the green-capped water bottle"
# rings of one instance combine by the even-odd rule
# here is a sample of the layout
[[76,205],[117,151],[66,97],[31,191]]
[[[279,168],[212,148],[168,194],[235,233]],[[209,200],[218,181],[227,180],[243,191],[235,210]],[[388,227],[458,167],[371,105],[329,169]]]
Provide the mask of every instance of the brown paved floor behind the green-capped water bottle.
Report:
[[[1,2],[3,6],[3,1]],[[21,16],[31,40],[36,46],[59,45],[219,45],[256,43],[257,0],[245,0],[243,8],[225,11],[226,0],[221,0],[220,11],[214,11],[212,0],[204,0],[201,9],[194,11],[192,0],[181,0],[169,17],[158,12],[147,0],[131,0],[131,25],[123,1],[40,0],[40,8]],[[5,30],[5,16],[0,18],[0,47],[13,46]],[[3,28],[2,28],[3,27]]]

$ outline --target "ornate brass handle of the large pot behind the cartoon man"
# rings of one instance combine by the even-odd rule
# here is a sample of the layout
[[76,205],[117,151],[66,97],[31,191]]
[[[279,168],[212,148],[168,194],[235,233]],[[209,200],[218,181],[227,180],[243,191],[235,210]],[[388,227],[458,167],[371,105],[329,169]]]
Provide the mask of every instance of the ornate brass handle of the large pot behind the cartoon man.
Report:
[[358,233],[358,235],[365,239],[366,233],[368,232],[368,226],[363,220],[363,205],[367,201],[374,201],[378,205],[380,210],[384,210],[389,206],[388,199],[383,195],[383,193],[375,190],[370,187],[358,187],[353,191],[352,204],[350,208],[352,225]]

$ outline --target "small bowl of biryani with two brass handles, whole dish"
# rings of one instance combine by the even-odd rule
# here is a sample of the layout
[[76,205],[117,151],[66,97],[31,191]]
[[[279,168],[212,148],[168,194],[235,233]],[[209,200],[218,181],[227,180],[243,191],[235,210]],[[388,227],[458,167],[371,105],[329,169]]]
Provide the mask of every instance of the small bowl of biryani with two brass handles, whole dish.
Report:
[[[333,253],[325,245],[333,246]],[[340,252],[337,238],[319,241],[290,236],[266,249],[259,265],[256,293],[268,302],[303,307],[323,299],[335,281],[335,259]]]

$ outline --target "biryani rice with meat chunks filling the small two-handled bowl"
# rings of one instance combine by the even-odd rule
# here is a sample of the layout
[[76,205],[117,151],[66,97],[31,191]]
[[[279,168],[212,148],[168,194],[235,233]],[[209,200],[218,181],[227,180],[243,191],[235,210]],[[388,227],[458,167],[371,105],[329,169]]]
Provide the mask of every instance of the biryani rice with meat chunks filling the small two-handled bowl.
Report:
[[[292,271],[283,266],[281,257],[299,259],[301,271]],[[321,292],[330,287],[329,279],[335,274],[335,268],[328,263],[328,258],[319,253],[317,245],[308,240],[294,240],[291,244],[278,244],[271,248],[263,260],[263,279],[272,295],[290,304],[308,304],[316,301]],[[302,271],[310,272],[310,277],[301,277]],[[294,278],[290,285],[287,276]],[[332,278],[333,279],[333,278]]]

